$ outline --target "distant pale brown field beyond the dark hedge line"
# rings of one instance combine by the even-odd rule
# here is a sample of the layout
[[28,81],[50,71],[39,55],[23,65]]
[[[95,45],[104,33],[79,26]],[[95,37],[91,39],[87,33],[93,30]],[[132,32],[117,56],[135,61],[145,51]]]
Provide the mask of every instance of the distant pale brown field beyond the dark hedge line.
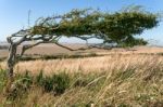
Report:
[[[78,48],[85,48],[85,44],[65,44],[72,49],[78,49]],[[20,49],[17,53],[20,53]],[[129,49],[112,49],[112,50],[98,50],[98,49],[91,49],[87,51],[76,51],[76,52],[71,52],[68,50],[65,50],[63,48],[60,48],[55,44],[40,44],[37,45],[26,52],[26,55],[60,55],[60,54],[83,54],[83,53],[100,53],[100,54],[114,54],[114,53],[122,53],[122,54],[158,54],[158,53],[163,53],[163,48],[162,46],[135,46],[135,48],[129,48]],[[0,57],[7,57],[8,56],[8,50],[0,50]]]

